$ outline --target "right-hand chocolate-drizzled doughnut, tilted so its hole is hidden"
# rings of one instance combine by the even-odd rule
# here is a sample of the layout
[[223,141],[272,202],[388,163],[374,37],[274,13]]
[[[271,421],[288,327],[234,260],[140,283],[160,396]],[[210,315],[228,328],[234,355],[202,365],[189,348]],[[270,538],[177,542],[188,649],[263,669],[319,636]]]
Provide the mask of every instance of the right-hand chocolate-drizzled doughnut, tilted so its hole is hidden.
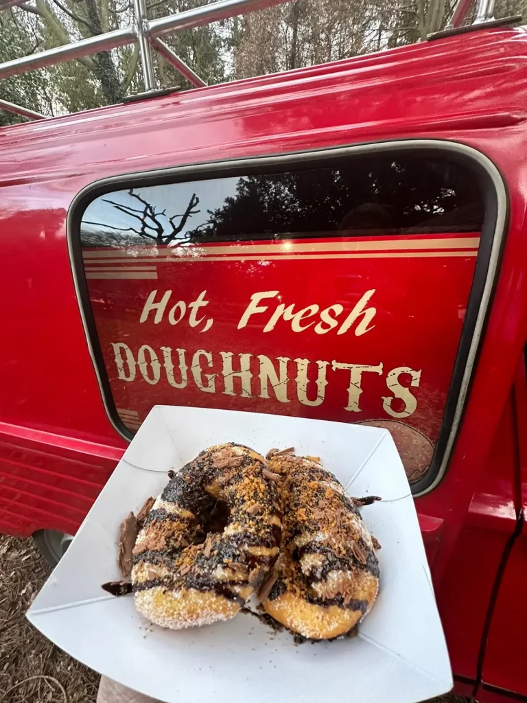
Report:
[[360,517],[363,503],[350,498],[318,458],[271,450],[267,459],[279,477],[282,541],[262,605],[305,638],[349,633],[369,612],[379,586],[379,545]]

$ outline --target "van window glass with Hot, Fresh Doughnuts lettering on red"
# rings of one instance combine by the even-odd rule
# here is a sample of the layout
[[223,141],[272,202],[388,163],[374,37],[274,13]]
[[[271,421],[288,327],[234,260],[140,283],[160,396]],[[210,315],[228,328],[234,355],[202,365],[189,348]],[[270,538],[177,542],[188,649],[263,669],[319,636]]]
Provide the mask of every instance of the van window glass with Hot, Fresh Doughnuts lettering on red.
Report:
[[478,181],[429,153],[301,166],[152,174],[89,202],[77,236],[107,404],[128,433],[155,404],[386,427],[417,481],[467,312]]

